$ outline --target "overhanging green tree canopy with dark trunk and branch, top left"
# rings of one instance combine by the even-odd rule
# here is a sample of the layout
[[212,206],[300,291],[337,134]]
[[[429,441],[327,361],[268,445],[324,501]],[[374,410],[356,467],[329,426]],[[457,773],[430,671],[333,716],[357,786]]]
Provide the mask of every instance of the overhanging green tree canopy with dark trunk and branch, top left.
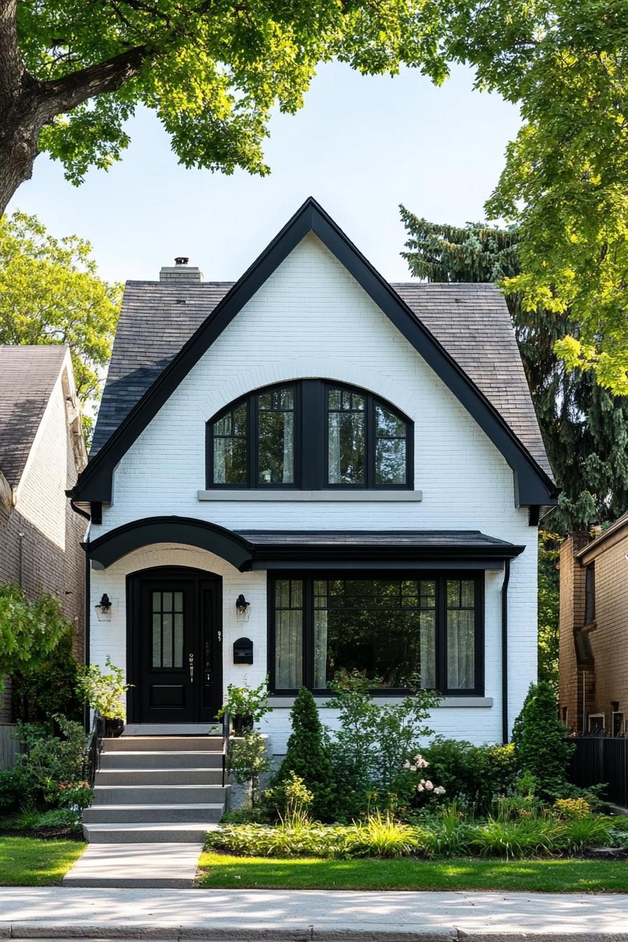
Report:
[[140,105],[185,167],[266,173],[270,111],[298,110],[317,63],[441,81],[440,18],[435,0],[0,0],[0,212],[38,150],[73,183],[118,159]]

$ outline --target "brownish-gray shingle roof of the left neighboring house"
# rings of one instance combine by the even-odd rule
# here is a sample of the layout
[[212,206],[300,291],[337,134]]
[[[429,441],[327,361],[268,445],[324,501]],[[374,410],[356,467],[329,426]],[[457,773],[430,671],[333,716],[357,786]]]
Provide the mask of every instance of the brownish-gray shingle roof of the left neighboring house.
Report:
[[16,487],[67,347],[0,346],[0,471]]

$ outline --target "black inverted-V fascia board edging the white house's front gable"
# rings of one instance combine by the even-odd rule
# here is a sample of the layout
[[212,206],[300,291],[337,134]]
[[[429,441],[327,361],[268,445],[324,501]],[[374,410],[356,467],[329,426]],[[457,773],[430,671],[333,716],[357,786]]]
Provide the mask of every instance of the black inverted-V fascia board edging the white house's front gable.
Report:
[[72,498],[111,503],[113,474],[122,456],[233,317],[310,232],[320,238],[361,284],[499,449],[514,474],[516,505],[556,503],[556,485],[523,447],[489,399],[313,197],[306,200],[292,219],[288,220],[138,400],[96,457],[88,463],[72,489]]

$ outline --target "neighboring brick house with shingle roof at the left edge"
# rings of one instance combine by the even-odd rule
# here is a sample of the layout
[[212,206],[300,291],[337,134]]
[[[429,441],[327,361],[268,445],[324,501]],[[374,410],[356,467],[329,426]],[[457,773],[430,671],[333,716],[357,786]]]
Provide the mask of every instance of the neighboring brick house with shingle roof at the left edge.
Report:
[[86,462],[69,349],[0,346],[0,583],[19,583],[30,599],[58,595],[76,625],[79,658],[87,521],[66,490]]

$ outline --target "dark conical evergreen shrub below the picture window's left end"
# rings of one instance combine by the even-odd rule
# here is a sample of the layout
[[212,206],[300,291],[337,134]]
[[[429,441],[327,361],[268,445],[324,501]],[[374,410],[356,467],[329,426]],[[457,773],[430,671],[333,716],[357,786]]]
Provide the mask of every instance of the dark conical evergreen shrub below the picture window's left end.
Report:
[[318,717],[314,696],[301,687],[290,711],[292,733],[287,752],[275,777],[274,786],[282,785],[293,772],[314,795],[312,812],[319,820],[333,817],[333,771],[324,747],[323,727]]

